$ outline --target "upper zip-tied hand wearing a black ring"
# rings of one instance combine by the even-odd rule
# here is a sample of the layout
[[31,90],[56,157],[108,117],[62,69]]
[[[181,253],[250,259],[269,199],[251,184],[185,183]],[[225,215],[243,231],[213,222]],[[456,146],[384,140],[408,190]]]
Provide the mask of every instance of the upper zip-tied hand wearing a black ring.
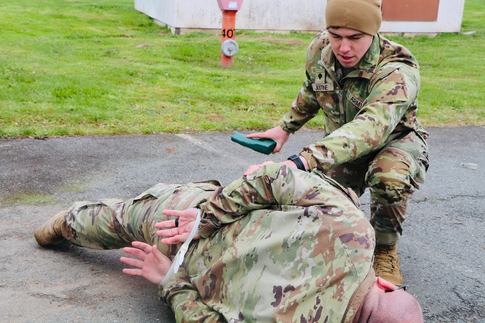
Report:
[[[195,219],[197,218],[197,209],[187,209],[183,211],[178,210],[163,210],[164,215],[178,217],[178,227],[175,226],[175,220],[166,220],[155,223],[156,229],[172,228],[168,230],[159,230],[157,235],[163,238],[162,244],[172,245],[179,242],[185,242],[194,228]],[[200,239],[202,236],[196,232],[193,239]]]

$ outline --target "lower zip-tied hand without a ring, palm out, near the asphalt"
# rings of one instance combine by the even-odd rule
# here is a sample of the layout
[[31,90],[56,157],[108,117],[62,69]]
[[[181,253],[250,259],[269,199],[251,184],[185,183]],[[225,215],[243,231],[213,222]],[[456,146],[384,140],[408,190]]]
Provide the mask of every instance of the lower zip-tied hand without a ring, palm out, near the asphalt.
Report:
[[138,269],[125,268],[124,274],[142,276],[155,284],[160,284],[167,274],[172,261],[162,254],[156,245],[150,246],[140,241],[131,243],[134,248],[125,247],[123,251],[139,259],[121,257],[120,260]]

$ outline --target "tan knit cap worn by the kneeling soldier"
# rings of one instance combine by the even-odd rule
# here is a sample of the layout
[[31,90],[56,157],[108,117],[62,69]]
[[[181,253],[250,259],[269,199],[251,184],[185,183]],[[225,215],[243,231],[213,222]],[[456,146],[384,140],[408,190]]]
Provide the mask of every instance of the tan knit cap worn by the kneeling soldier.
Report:
[[325,22],[375,35],[381,27],[381,0],[327,0]]

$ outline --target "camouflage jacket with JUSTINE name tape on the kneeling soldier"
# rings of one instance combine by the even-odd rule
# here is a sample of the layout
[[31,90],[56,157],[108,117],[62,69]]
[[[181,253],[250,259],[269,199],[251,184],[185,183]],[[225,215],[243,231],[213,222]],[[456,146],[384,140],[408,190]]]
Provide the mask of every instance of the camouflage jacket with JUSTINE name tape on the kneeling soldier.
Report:
[[321,31],[307,49],[307,79],[280,123],[294,133],[322,108],[325,138],[300,154],[310,169],[370,161],[373,152],[409,131],[427,137],[416,119],[419,65],[406,48],[378,33],[356,70],[341,78],[336,62],[328,31]]

